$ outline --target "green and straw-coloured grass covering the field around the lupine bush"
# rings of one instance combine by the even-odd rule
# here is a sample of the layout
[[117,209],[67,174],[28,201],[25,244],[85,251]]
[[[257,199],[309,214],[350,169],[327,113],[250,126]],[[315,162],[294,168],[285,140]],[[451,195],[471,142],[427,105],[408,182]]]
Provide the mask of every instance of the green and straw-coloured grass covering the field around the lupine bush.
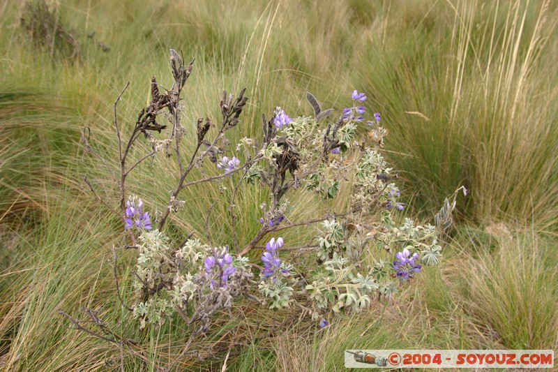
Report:
[[[119,120],[130,133],[149,98],[149,79],[167,86],[169,47],[196,57],[183,123],[218,117],[223,89],[247,88],[231,142],[259,134],[262,112],[280,105],[308,114],[306,91],[341,110],[353,89],[389,128],[386,151],[400,171],[407,213],[432,218],[464,184],[458,224],[442,266],[388,304],[317,330],[289,312],[269,315],[239,302],[181,360],[179,369],[333,371],[345,348],[547,348],[558,350],[558,38],[556,3],[545,1],[57,1],[82,57],[40,50],[19,26],[22,6],[0,0],[0,367],[6,370],[154,371],[130,350],[66,329],[58,308],[82,318],[90,307],[114,332],[134,338],[151,362],[167,365],[190,330],[178,318],[140,331],[114,291],[111,247],[121,227],[82,181],[117,203],[116,185],[80,135],[114,159],[112,105],[126,82]],[[104,53],[86,35],[110,45]],[[186,142],[193,144],[194,132]],[[188,146],[186,144],[186,147]],[[142,144],[131,156],[141,156]],[[111,163],[114,165],[114,161]],[[128,191],[162,208],[176,182],[174,160],[156,158]],[[204,237],[206,209],[229,200],[232,181],[189,188],[172,219],[176,239]],[[236,179],[237,181],[237,179]],[[230,184],[228,183],[230,182]],[[236,205],[240,244],[259,228],[266,193],[248,187]],[[310,194],[291,198],[293,216],[315,216]],[[227,242],[227,202],[211,214],[212,239]],[[495,223],[508,233],[487,232]],[[492,229],[494,230],[494,229]],[[302,241],[300,231],[285,235]],[[121,283],[134,253],[119,256]],[[123,300],[133,291],[123,288]],[[264,325],[260,329],[255,327]],[[227,357],[227,354],[229,355]],[[226,359],[226,362],[225,362]]]

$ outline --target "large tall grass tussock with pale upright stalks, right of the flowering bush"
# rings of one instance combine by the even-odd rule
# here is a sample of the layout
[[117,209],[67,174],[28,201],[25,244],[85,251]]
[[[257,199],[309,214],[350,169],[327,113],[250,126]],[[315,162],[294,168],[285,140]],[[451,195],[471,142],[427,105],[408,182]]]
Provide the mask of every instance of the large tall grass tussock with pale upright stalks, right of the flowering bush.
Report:
[[357,66],[364,66],[361,74],[395,129],[391,147],[406,149],[394,159],[428,209],[432,195],[465,183],[471,198],[464,213],[473,221],[555,227],[551,5],[433,4],[416,15],[412,32],[370,44],[361,57]]

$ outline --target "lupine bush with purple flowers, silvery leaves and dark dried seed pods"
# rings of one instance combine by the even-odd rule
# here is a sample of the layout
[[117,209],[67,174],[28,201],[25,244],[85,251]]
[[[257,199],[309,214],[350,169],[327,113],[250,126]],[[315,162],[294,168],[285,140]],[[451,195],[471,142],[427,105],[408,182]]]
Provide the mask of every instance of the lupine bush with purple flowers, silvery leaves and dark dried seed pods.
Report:
[[[363,92],[347,94],[347,101],[352,98],[352,102],[337,114],[333,108],[322,110],[317,99],[307,93],[311,114],[291,118],[276,107],[271,118],[262,115],[261,136],[245,137],[236,147],[224,134],[241,124],[248,97],[245,90],[236,98],[224,92],[219,103],[220,124],[209,118],[197,120],[196,144],[186,162],[181,140],[192,129],[181,122],[180,97],[193,64],[185,65],[183,58],[171,50],[174,83],[162,93],[153,77],[151,103],[140,111],[135,126],[126,129],[130,133],[126,140],[116,121],[116,108],[128,85],[116,99],[119,172],[91,147],[89,128],[82,136],[86,153],[98,158],[119,186],[116,208],[100,198],[85,179],[96,198],[122,221],[123,246],[119,248],[137,251],[137,262],[126,281],[131,281],[137,292],[130,311],[140,327],[160,325],[179,313],[195,329],[194,335],[204,334],[216,311],[231,309],[235,301],[252,299],[254,306],[266,306],[269,311],[287,311],[296,304],[297,311],[302,309],[301,316],[308,315],[324,328],[334,321],[335,314],[363,311],[372,301],[393,296],[425,266],[439,262],[439,236],[451,225],[458,191],[465,193],[465,188],[455,191],[452,202],[446,198],[435,216],[435,225],[415,225],[409,218],[403,225],[395,223],[398,218],[392,214],[400,213],[406,204],[400,201],[402,193],[395,184],[398,174],[382,155],[388,130],[382,126],[383,120],[380,124],[378,112],[372,120],[366,120],[367,96]],[[152,151],[131,161],[130,148],[140,140],[145,140]],[[151,195],[130,195],[126,186],[126,177],[137,165],[160,153],[176,159],[179,174],[178,184],[163,207],[155,205]],[[190,171],[207,164],[213,164],[213,174],[200,172],[201,178],[192,179]],[[233,174],[240,174],[241,181],[234,188],[232,200],[222,200],[230,205],[232,236],[216,244],[206,223],[202,240],[190,234],[173,241],[165,230],[172,223],[172,215],[188,218],[181,215],[181,191],[194,184],[223,181]],[[234,198],[246,184],[267,188],[270,198],[261,200],[259,231],[239,246]],[[306,221],[289,216],[287,197],[296,191],[310,190],[327,202],[337,198],[342,188],[349,195],[347,209],[330,210]],[[153,222],[147,209],[158,209]],[[209,213],[211,209],[208,218]],[[317,228],[319,232],[311,241],[296,246],[301,242],[285,241],[281,233],[294,227]],[[262,241],[266,241],[264,247],[259,245]],[[260,248],[264,248],[263,254],[250,254]],[[298,265],[301,253],[305,253],[303,266]],[[308,253],[314,257],[310,267]],[[116,248],[114,258],[116,290],[120,291]]]

